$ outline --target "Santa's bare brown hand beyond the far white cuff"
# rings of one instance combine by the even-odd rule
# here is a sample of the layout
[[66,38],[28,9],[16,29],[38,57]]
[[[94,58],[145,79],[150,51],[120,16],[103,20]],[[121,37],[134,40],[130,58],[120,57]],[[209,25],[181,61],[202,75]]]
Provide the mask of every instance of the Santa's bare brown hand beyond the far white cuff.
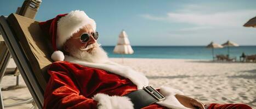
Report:
[[189,98],[184,95],[175,95],[175,97],[179,100],[179,102],[188,108],[200,108],[205,109],[204,104],[196,99]]

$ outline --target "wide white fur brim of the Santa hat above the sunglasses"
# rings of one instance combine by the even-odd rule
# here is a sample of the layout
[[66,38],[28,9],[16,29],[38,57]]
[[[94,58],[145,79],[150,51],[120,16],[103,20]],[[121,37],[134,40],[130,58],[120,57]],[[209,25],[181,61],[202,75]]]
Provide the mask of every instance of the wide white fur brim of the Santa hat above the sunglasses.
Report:
[[71,38],[72,34],[76,33],[86,25],[91,25],[93,30],[96,31],[95,21],[90,19],[86,13],[81,10],[71,11],[66,16],[61,17],[58,21],[56,34],[57,49],[61,49],[66,40]]

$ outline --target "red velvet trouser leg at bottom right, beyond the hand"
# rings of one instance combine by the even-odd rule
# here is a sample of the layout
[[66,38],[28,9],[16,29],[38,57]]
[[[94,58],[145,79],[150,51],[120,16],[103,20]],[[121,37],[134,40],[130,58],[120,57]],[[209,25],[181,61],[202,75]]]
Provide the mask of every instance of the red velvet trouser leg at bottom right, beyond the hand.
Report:
[[252,109],[246,104],[210,104],[207,109]]

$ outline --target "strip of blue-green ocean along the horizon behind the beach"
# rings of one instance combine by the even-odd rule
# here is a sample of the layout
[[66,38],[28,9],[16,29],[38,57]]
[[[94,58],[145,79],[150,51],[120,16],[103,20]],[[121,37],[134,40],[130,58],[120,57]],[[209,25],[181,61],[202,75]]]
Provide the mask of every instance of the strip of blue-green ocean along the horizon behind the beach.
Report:
[[[103,46],[112,58],[167,58],[167,59],[212,59],[212,49],[205,46],[132,46],[133,54],[115,54],[115,46]],[[239,60],[242,52],[246,55],[256,54],[256,46],[230,47],[230,57]],[[227,54],[227,47],[214,49],[214,54]]]

